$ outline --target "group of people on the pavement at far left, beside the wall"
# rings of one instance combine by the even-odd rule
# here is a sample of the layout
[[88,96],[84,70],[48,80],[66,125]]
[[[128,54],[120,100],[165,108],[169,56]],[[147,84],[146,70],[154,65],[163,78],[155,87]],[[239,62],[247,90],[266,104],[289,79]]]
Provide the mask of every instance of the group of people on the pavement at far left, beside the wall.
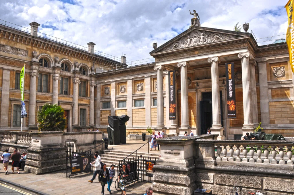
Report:
[[14,173],[14,167],[16,167],[17,174],[20,174],[19,169],[20,168],[23,169],[24,166],[22,165],[26,161],[26,152],[23,152],[21,155],[19,152],[17,152],[17,148],[15,148],[13,154],[10,154],[8,152],[8,149],[6,149],[0,159],[3,160],[3,168],[4,168],[5,175],[8,173],[8,164],[10,159],[12,160],[12,167],[11,167],[12,173]]

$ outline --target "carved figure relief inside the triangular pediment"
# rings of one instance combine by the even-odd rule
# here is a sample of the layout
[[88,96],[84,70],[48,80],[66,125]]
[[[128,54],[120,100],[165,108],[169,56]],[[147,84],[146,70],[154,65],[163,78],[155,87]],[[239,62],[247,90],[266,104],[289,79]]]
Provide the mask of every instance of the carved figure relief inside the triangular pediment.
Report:
[[218,32],[194,30],[190,34],[186,34],[186,36],[181,37],[178,41],[175,41],[169,46],[163,48],[163,51],[170,51],[174,49],[181,49],[218,41],[225,41],[236,37],[237,36],[235,35],[223,34]]

